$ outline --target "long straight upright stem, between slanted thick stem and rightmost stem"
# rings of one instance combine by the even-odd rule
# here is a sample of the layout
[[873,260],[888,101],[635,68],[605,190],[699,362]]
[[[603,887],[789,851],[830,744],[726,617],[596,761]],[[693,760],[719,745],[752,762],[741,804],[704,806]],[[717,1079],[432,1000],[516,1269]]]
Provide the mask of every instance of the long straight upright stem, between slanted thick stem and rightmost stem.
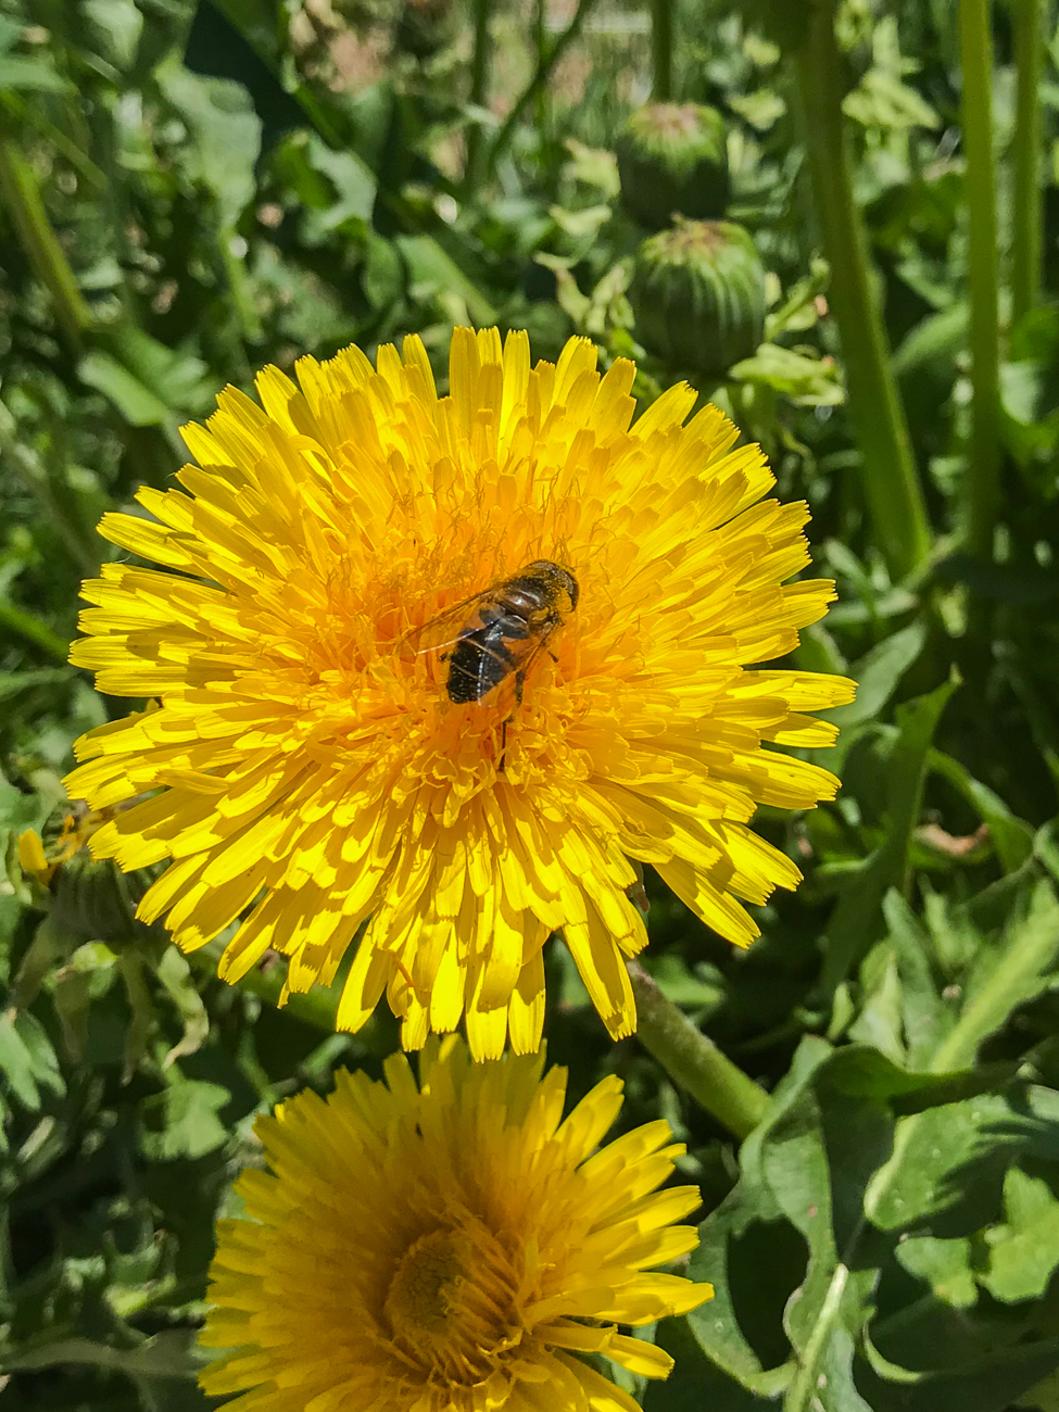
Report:
[[1000,318],[993,162],[993,34],[988,0],[960,0],[971,350],[967,548],[990,558],[1000,508]]

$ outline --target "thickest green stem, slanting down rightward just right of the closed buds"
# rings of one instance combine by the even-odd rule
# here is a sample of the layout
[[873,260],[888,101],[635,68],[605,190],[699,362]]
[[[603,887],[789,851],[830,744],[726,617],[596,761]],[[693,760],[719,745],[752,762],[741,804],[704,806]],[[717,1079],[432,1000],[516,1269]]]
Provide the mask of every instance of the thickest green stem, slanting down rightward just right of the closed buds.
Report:
[[806,0],[795,51],[796,97],[805,130],[813,203],[830,265],[827,299],[846,363],[864,494],[891,572],[904,578],[926,558],[931,530],[901,394],[890,366],[868,241],[853,195],[842,112],[844,62],[834,38],[834,0]]

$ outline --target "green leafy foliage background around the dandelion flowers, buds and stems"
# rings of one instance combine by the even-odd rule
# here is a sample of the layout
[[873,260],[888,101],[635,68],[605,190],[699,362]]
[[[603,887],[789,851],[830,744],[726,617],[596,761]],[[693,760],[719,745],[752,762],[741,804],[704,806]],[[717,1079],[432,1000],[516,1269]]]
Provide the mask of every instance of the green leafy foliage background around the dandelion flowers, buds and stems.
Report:
[[[998,3],[1000,246],[1011,243],[1012,16]],[[606,1042],[558,945],[548,1042],[623,1124],[666,1117],[703,1192],[692,1269],[717,1298],[657,1330],[647,1412],[1059,1409],[1059,103],[1038,100],[1045,294],[1001,304],[1003,504],[964,552],[969,198],[955,6],[844,0],[844,114],[933,551],[894,580],[792,114],[782,4],[675,13],[675,92],[730,130],[729,215],[770,271],[767,343],[703,387],[812,505],[840,600],[796,661],[860,681],[834,712],[834,805],[761,827],[801,891],[746,955],[655,888],[647,966],[774,1100],[737,1151],[635,1039]],[[1048,7],[1045,7],[1048,10]],[[794,13],[794,11],[791,11]],[[788,16],[789,17],[789,16]],[[795,25],[796,28],[796,25]],[[18,834],[62,801],[72,740],[124,714],[65,665],[99,515],[181,463],[178,425],[267,361],[453,323],[573,332],[641,357],[642,233],[613,140],[650,88],[635,4],[496,4],[472,103],[463,0],[0,4],[0,1395],[4,1408],[202,1408],[193,1347],[216,1213],[254,1114],[335,1066],[376,1072],[378,1017],[275,1008],[131,922],[136,880],[76,860],[45,894]],[[796,35],[795,35],[796,38]],[[777,40],[779,42],[777,42]],[[558,54],[556,51],[558,45]],[[496,95],[490,106],[489,95]],[[511,96],[522,95],[511,112]],[[35,213],[35,215],[34,215]],[[35,220],[35,225],[34,225]],[[49,244],[48,230],[56,244]],[[1049,295],[1051,291],[1051,295]],[[682,376],[641,357],[644,400]],[[970,467],[970,469],[969,469]],[[816,755],[819,758],[819,754]],[[192,969],[193,966],[193,969]]]

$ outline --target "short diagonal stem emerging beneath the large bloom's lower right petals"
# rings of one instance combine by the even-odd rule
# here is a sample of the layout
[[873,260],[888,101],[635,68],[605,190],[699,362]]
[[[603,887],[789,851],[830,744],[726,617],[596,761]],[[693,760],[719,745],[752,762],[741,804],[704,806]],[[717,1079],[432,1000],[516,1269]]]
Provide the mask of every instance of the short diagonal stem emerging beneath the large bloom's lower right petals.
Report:
[[768,1094],[737,1067],[633,962],[628,967],[637,1000],[637,1038],[669,1077],[743,1139],[768,1111]]

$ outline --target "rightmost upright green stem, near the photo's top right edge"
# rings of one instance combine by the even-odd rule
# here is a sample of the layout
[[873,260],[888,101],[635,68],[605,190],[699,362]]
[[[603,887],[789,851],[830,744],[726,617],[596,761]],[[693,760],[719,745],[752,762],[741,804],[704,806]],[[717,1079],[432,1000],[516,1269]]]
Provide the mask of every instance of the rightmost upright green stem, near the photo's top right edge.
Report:
[[1011,18],[1015,71],[1018,73],[1015,136],[1011,144],[1015,175],[1014,230],[1011,233],[1011,322],[1015,323],[1038,304],[1041,297],[1045,215],[1041,182],[1043,154],[1041,80],[1045,59],[1041,0],[1011,0]]

